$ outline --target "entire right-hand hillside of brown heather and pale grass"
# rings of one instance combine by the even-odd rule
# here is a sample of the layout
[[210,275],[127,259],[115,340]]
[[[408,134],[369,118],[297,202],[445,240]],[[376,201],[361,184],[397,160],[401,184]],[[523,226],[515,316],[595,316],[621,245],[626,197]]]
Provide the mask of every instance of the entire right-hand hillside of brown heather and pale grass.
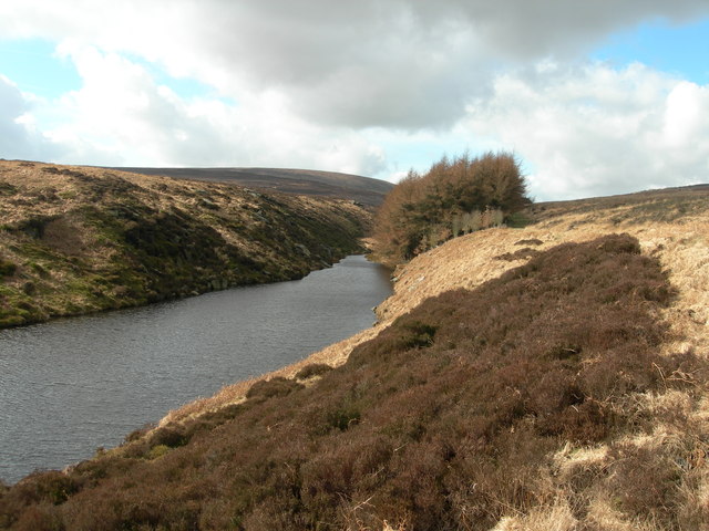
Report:
[[0,527],[709,529],[709,192],[525,215],[400,267],[358,336],[27,478]]

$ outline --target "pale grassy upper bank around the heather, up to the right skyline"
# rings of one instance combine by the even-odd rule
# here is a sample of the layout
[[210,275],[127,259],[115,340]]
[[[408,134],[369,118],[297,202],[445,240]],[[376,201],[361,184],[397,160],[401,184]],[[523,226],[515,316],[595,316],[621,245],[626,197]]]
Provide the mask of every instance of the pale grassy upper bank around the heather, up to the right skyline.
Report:
[[[273,376],[292,377],[310,363],[339,366],[357,345],[376,337],[429,298],[474,289],[556,244],[619,232],[637,238],[644,254],[657,257],[678,289],[671,306],[664,310],[664,317],[672,323],[678,337],[684,337],[676,346],[709,353],[709,185],[536,204],[524,216],[531,223],[525,228],[489,229],[454,238],[400,266],[393,272],[394,294],[377,308],[374,327]],[[218,395],[186,404],[171,412],[164,423],[238,402],[251,383],[239,382]]]

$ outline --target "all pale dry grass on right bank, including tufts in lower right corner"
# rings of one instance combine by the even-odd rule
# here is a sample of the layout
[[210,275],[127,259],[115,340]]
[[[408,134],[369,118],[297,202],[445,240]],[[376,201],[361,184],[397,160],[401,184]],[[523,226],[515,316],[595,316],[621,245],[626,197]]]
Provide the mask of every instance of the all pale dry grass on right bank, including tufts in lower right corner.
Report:
[[[496,258],[514,254],[527,246],[526,241],[541,241],[534,249],[543,251],[559,243],[583,242],[615,232],[637,238],[643,253],[659,260],[677,290],[672,304],[659,314],[675,337],[662,345],[662,352],[696,353],[709,358],[709,196],[702,192],[698,202],[697,192],[685,194],[677,198],[679,206],[675,207],[667,197],[662,199],[660,216],[653,214],[658,202],[653,196],[645,202],[629,205],[606,200],[589,207],[578,201],[566,210],[564,205],[547,209],[544,216],[538,216],[537,223],[524,229],[491,229],[453,239],[397,269],[395,292],[377,309],[380,322],[376,327],[275,374],[291,376],[302,365],[315,362],[341,365],[353,347],[377,336],[427,299],[454,289],[473,289],[525,263],[524,258],[512,261]],[[682,207],[682,201],[689,207]],[[646,211],[643,208],[650,214],[639,222],[629,216]],[[672,208],[689,214],[678,218]],[[664,219],[668,210],[669,220]],[[656,456],[664,465],[658,465],[659,471],[653,473],[677,473],[677,496],[681,498],[676,516],[681,527],[677,529],[709,529],[709,396],[699,375],[680,372],[662,377],[690,384],[684,389],[631,394],[621,400],[616,407],[644,423],[646,428],[640,433],[628,433],[596,446],[565,444],[549,454],[547,465],[538,470],[540,499],[548,501],[527,513],[502,517],[495,529],[668,529],[654,523],[651,514],[634,517],[618,508],[618,487],[608,480],[608,471],[617,469],[619,459],[624,459],[618,448],[629,456]],[[247,387],[237,384],[228,394],[209,402],[208,407],[218,408],[220,404],[240,399]],[[191,413],[198,413],[198,408]],[[616,473],[624,473],[617,470]]]

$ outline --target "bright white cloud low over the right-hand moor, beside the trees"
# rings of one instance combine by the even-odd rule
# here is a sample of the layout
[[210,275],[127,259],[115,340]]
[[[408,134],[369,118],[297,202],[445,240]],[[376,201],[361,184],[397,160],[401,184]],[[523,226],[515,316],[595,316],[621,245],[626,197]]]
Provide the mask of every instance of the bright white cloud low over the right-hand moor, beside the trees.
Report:
[[640,64],[501,75],[463,127],[513,147],[537,199],[705,181],[709,90]]

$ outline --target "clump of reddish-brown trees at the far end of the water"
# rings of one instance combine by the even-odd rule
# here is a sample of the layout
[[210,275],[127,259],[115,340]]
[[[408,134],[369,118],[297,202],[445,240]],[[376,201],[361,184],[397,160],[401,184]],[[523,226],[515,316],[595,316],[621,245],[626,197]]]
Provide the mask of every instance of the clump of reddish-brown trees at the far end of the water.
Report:
[[517,162],[508,154],[441,159],[425,175],[410,171],[384,198],[377,216],[378,254],[388,262],[409,260],[443,241],[508,220],[531,201]]

